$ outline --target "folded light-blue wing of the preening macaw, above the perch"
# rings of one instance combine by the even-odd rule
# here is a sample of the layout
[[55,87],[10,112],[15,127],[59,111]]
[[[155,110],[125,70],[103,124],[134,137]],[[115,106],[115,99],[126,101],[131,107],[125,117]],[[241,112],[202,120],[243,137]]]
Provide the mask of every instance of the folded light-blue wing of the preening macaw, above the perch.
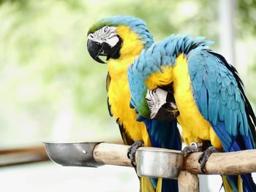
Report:
[[[202,66],[205,70],[201,70]],[[189,56],[188,67],[189,75],[194,77],[191,80],[195,100],[197,100],[196,104],[203,117],[214,126],[218,122],[223,123],[224,126],[222,125],[220,128],[225,128],[227,131],[225,138],[221,139],[221,142],[224,142],[227,137],[230,138],[225,150],[230,151],[233,145],[232,141],[237,134],[246,136],[254,144],[254,140],[251,140],[248,134],[249,126],[247,125],[244,100],[239,96],[241,93],[238,92],[235,77],[225,64],[210,51],[198,50]],[[200,82],[202,83],[201,88],[198,86]],[[239,122],[240,128],[237,128]],[[218,129],[218,127],[216,128]],[[217,136],[222,137],[219,134]]]

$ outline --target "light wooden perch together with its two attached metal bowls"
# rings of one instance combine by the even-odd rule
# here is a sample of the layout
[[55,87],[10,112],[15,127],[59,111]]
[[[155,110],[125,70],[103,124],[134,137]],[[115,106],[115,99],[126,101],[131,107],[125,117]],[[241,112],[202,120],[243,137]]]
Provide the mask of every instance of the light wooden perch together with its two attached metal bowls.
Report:
[[[132,166],[127,151],[130,146],[104,142],[45,143],[51,160],[64,166]],[[137,174],[141,177],[178,179],[180,192],[199,191],[197,174],[203,174],[199,155],[184,158],[177,150],[140,147],[136,152]],[[206,174],[246,174],[256,172],[256,150],[212,153],[206,163]],[[183,169],[183,170],[182,170]]]

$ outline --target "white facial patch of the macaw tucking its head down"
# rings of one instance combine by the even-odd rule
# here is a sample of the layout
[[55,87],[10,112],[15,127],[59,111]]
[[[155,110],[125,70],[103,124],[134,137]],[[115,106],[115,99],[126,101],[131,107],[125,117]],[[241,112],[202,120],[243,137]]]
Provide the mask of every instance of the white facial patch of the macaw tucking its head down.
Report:
[[148,90],[146,94],[146,101],[148,108],[151,111],[150,118],[153,119],[160,107],[166,103],[167,91],[157,88],[154,90]]

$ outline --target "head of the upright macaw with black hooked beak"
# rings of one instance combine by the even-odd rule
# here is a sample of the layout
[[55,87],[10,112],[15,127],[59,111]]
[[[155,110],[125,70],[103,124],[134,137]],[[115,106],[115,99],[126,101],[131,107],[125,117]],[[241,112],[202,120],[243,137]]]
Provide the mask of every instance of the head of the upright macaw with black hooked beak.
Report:
[[143,20],[131,16],[103,18],[89,28],[87,48],[91,57],[102,64],[106,60],[126,55],[139,55],[143,48],[153,44],[153,37]]

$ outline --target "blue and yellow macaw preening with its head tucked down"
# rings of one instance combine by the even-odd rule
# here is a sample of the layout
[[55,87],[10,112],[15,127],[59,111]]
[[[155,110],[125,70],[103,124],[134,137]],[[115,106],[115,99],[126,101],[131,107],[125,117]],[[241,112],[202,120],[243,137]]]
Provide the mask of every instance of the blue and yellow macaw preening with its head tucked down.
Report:
[[[178,110],[185,143],[208,147],[200,157],[205,171],[208,155],[217,149],[255,149],[256,118],[236,69],[203,39],[171,36],[151,45],[129,66],[128,80],[140,119],[167,120]],[[256,191],[251,174],[222,180],[225,191]]]

